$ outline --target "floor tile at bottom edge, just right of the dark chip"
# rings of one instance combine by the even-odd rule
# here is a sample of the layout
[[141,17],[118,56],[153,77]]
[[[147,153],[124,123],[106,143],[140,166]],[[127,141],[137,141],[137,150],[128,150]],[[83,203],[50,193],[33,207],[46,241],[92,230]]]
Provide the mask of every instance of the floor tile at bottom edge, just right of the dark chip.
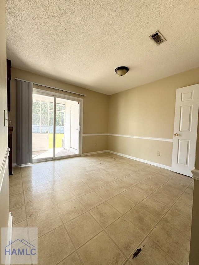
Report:
[[[143,247],[144,246],[144,247]],[[168,255],[166,255],[162,249],[160,249],[150,238],[146,238],[141,245],[140,254],[137,258],[132,260],[132,264],[136,265],[177,265]],[[136,250],[136,249],[135,249]]]

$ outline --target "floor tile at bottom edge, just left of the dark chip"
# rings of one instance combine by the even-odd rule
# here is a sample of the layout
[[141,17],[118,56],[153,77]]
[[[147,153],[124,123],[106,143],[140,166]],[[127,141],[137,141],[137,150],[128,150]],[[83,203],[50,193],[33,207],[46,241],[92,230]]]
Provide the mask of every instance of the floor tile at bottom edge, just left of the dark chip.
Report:
[[96,235],[78,252],[86,265],[122,265],[125,257],[104,231]]

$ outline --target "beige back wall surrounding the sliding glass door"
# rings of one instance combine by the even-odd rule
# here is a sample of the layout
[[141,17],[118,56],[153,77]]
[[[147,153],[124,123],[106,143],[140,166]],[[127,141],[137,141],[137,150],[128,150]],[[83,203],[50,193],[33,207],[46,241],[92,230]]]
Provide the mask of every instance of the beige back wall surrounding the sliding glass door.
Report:
[[[36,75],[27,71],[12,67],[11,81],[11,112],[8,118],[13,120],[13,163],[16,162],[16,81],[15,78],[49,85],[63,90],[69,90],[81,94],[85,94],[84,111],[83,111],[83,134],[101,134],[108,132],[108,99],[109,96],[89,89],[69,85],[57,80],[50,79],[41,75]],[[49,89],[54,91],[53,89]],[[56,91],[57,93],[73,95],[70,93]],[[77,95],[73,95],[78,97]],[[97,146],[95,146],[95,143]],[[98,136],[83,136],[83,153],[90,153],[107,149],[107,138]]]

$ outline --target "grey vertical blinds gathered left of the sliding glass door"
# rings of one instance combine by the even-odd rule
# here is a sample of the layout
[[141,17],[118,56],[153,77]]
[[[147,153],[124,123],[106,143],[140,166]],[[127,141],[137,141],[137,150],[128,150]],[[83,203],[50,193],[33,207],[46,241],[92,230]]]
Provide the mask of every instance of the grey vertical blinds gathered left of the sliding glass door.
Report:
[[16,164],[32,163],[32,83],[16,80]]

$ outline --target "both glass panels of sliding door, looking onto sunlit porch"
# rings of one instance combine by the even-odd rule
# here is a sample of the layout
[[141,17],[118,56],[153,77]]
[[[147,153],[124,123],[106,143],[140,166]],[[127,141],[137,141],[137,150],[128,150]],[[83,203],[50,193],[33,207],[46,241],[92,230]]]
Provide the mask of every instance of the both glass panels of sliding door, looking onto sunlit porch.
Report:
[[81,100],[33,89],[33,162],[80,155]]

